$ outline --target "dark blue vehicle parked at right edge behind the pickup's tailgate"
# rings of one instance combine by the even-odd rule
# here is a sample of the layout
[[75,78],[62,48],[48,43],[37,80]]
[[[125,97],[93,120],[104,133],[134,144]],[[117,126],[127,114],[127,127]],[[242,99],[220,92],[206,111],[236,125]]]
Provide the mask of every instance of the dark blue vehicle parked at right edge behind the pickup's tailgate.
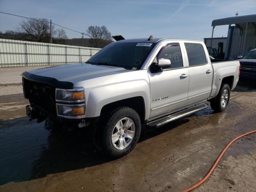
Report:
[[241,65],[241,78],[256,79],[256,49],[250,50],[244,57],[237,57]]

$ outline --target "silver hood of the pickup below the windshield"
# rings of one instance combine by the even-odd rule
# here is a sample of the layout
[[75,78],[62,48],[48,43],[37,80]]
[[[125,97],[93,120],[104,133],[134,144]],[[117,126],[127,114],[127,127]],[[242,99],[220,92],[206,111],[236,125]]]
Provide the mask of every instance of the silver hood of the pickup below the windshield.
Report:
[[[76,83],[92,78],[98,78],[102,76],[108,76],[113,74],[119,74],[124,72],[130,72],[120,67],[104,66],[104,65],[92,65],[92,64],[67,64],[60,66],[52,66],[46,68],[40,68],[29,72],[24,72],[22,76],[26,78],[28,74],[30,76],[42,76],[55,79],[60,82]],[[30,80],[33,80],[30,78]]]

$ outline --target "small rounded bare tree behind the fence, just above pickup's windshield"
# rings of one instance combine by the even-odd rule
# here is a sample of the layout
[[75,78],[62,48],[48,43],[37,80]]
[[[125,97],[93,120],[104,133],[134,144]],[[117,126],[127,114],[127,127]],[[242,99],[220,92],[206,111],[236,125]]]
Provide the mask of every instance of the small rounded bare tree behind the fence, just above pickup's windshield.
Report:
[[90,43],[94,47],[99,47],[104,40],[111,40],[111,35],[106,26],[90,26],[86,30],[87,36],[91,38]]

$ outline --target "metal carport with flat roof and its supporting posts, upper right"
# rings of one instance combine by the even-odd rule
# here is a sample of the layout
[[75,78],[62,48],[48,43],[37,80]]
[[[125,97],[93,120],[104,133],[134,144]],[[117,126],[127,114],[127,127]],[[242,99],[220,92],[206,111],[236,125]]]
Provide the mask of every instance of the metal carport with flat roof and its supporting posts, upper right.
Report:
[[[248,30],[254,30],[255,38],[253,47],[255,48],[255,41],[256,41],[256,14],[254,15],[245,15],[245,16],[236,16],[236,17],[228,17],[222,19],[216,19],[212,21],[212,37],[215,26],[220,25],[228,25],[228,30],[230,30],[230,26],[235,24],[235,27],[239,28],[240,30],[240,44],[242,41],[242,36],[244,35],[244,43],[242,48],[242,55],[244,54],[245,42],[246,42],[246,34]],[[245,31],[244,31],[245,30]],[[211,39],[211,46],[212,46],[212,39]]]

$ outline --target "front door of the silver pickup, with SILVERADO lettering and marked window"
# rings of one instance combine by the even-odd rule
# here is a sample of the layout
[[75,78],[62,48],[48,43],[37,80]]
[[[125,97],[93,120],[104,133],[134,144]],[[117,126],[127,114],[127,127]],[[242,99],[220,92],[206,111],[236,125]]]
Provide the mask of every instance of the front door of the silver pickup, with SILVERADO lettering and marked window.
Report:
[[159,116],[186,106],[188,100],[188,68],[184,64],[179,43],[163,46],[155,58],[167,58],[170,68],[161,72],[152,72],[148,68],[150,80],[151,112],[150,118]]

